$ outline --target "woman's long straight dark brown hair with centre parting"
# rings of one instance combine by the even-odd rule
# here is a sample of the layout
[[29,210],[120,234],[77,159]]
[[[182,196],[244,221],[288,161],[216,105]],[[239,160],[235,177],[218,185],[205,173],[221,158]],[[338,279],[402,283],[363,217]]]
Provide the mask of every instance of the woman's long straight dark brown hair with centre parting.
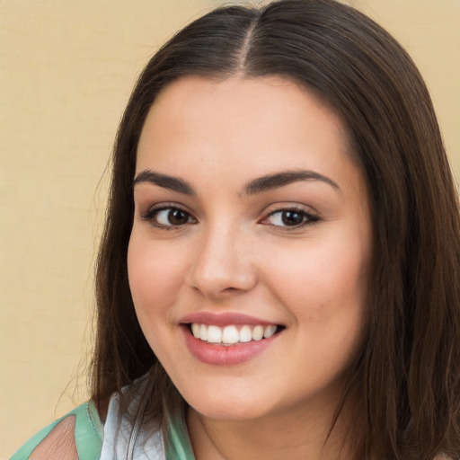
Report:
[[282,75],[332,105],[367,180],[373,268],[367,340],[349,394],[358,459],[460,456],[460,224],[428,90],[375,22],[333,0],[227,6],[180,31],[148,62],[119,126],[99,253],[93,399],[154,369],[147,410],[173,385],[137,323],[128,287],[137,142],[157,94],[183,75]]

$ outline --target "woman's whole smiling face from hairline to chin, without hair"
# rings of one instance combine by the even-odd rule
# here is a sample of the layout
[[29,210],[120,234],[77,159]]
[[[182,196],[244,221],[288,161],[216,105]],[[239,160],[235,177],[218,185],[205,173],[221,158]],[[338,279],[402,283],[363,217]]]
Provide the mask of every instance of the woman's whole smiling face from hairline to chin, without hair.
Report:
[[337,403],[371,252],[349,148],[334,111],[279,77],[182,78],[150,110],[129,283],[146,340],[200,413]]

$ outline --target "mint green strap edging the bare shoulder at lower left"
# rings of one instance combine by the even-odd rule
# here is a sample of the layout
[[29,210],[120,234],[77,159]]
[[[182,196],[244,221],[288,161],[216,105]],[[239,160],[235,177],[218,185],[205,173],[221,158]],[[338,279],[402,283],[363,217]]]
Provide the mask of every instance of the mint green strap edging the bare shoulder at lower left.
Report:
[[49,435],[60,421],[69,416],[75,417],[75,445],[78,458],[82,460],[99,460],[102,449],[103,427],[99,414],[91,401],[76,407],[64,417],[41,429],[13,454],[10,460],[28,460],[35,447]]

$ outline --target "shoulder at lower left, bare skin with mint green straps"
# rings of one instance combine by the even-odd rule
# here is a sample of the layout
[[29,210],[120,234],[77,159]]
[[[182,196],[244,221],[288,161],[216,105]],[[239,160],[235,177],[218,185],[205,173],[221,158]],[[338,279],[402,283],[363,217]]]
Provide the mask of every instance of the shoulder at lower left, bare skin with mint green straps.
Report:
[[84,403],[40,430],[11,460],[99,460],[102,433],[93,403]]

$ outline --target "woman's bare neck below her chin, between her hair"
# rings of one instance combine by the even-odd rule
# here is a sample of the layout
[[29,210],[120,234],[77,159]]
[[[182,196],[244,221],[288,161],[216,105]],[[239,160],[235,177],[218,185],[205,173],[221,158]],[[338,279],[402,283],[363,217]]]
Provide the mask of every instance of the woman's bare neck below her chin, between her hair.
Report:
[[342,442],[346,407],[332,429],[336,406],[297,405],[256,420],[213,420],[190,408],[188,426],[197,460],[349,460]]

